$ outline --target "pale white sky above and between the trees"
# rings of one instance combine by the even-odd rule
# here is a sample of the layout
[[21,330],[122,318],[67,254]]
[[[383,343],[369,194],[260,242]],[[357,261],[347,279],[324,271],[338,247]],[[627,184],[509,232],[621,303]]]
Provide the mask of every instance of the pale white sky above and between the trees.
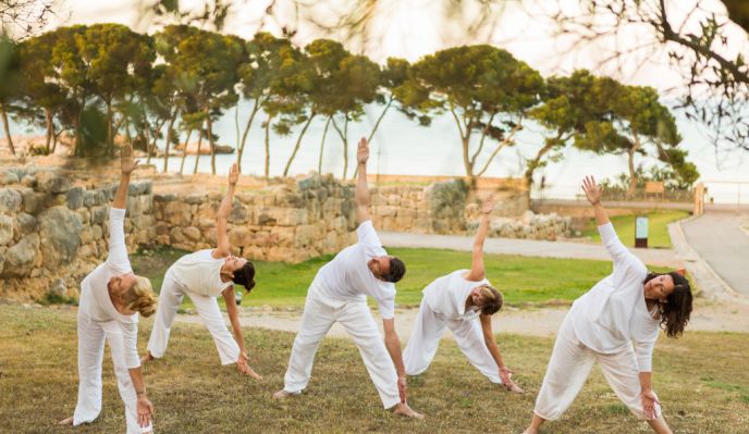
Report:
[[[354,0],[352,0],[354,1]],[[151,22],[144,17],[144,0],[107,0],[93,2],[90,0],[66,0],[63,1],[64,17],[62,23],[52,23],[51,26],[70,24],[91,24],[97,22],[115,22],[131,26],[137,32],[152,33],[156,28]],[[191,5],[204,4],[204,0],[181,1],[183,9]],[[228,20],[225,33],[236,34],[243,38],[250,39],[260,28],[263,12],[270,0],[235,0],[238,7]],[[299,10],[299,20],[295,20],[294,2],[291,0],[277,1],[278,23],[274,20],[265,20],[263,29],[280,35],[282,25],[287,25],[297,29],[293,38],[294,44],[304,46],[315,38],[323,36],[315,26],[310,25],[305,17],[312,16],[316,21],[332,24],[335,21],[336,11],[345,11],[351,1],[345,0],[300,0],[299,3],[308,4]],[[443,4],[446,1],[435,0],[379,0],[372,11],[370,32],[373,35],[364,45],[356,41],[345,40],[344,35],[330,35],[333,39],[341,40],[353,51],[364,51],[372,60],[380,63],[388,57],[401,57],[409,61],[416,61],[420,57],[456,45],[469,44],[492,44],[511,51],[515,57],[526,61],[532,67],[539,70],[542,75],[553,74],[566,75],[575,69],[590,69],[597,74],[612,75],[625,83],[633,85],[648,85],[658,88],[664,99],[674,100],[678,95],[674,92],[682,82],[682,76],[674,71],[674,66],[667,61],[666,52],[661,51],[653,57],[652,61],[641,63],[641,58],[636,55],[625,58],[619,64],[609,64],[601,67],[601,61],[609,53],[613,46],[621,49],[633,47],[642,39],[641,28],[626,29],[618,40],[600,40],[597,45],[591,45],[582,49],[572,50],[568,39],[554,36],[553,25],[538,16],[539,4],[543,5],[547,14],[552,12],[552,5],[557,4],[552,0],[518,0],[505,1],[494,7],[491,15],[498,16],[493,32],[478,32],[474,38],[466,37],[465,23],[458,20],[443,21]],[[687,9],[686,1],[672,0],[671,14],[673,22],[683,21]],[[565,11],[577,8],[577,0],[561,0]],[[725,10],[717,0],[712,0],[707,4],[707,12],[725,14]],[[684,9],[680,9],[684,8]],[[543,12],[543,11],[542,11]],[[475,13],[475,12],[474,12]],[[680,14],[680,15],[679,15]],[[471,11],[468,11],[471,16]],[[531,16],[532,15],[532,16]],[[687,29],[698,29],[699,16],[692,17],[687,24]],[[298,24],[295,24],[298,23]],[[749,51],[746,34],[737,26],[729,25],[730,51],[727,54]],[[622,66],[621,69],[618,66]],[[715,149],[702,134],[704,127],[700,124],[686,121],[679,117],[679,128],[685,137],[685,147],[690,152],[690,160],[695,161],[702,174],[702,179],[732,179],[749,182],[749,159],[748,152],[734,152],[728,158],[719,158]],[[400,123],[397,125],[406,125]],[[384,126],[384,125],[383,125]],[[393,124],[395,126],[395,124]],[[379,133],[378,133],[379,134]],[[383,133],[384,134],[384,133]],[[422,133],[420,133],[422,134]],[[533,145],[529,145],[533,146]],[[504,151],[503,151],[504,152]],[[563,179],[562,184],[573,183],[572,176],[577,176],[577,165],[582,168],[600,166],[602,162],[606,171],[622,173],[626,170],[626,163],[621,159],[605,159],[602,157],[589,156],[579,152],[572,152],[568,156],[572,161],[551,164],[545,169],[548,179]],[[717,164],[720,162],[720,165]],[[516,171],[515,171],[516,172]],[[507,173],[504,173],[507,174]],[[749,190],[749,186],[744,187]]]

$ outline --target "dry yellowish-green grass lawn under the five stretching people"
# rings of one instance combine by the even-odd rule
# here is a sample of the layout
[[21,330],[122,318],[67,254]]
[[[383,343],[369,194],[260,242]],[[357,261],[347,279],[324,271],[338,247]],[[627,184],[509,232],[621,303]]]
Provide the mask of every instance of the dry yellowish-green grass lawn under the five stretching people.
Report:
[[[7,433],[118,433],[124,430],[109,350],[105,357],[103,410],[76,430],[56,421],[71,416],[77,389],[75,308],[0,306],[0,421]],[[143,351],[151,327],[142,320]],[[528,422],[545,370],[552,339],[500,335],[516,380],[528,390],[512,395],[468,364],[444,340],[426,374],[410,379],[410,404],[425,421],[396,418],[380,406],[356,347],[326,339],[312,381],[302,397],[283,404],[270,395],[281,387],[292,334],[246,330],[253,367],[261,382],[222,368],[212,340],[200,326],[180,324],[167,357],[146,367],[159,433],[519,433]],[[407,336],[403,336],[406,338]],[[749,432],[749,335],[688,333],[662,338],[654,381],[676,433]],[[648,432],[619,404],[594,369],[577,401],[547,433]]]

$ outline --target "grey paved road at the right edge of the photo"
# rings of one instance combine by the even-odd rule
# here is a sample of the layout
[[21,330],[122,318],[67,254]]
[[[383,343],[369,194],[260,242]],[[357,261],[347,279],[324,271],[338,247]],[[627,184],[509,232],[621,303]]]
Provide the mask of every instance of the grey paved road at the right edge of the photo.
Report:
[[744,295],[749,295],[749,235],[740,226],[747,222],[749,212],[709,211],[682,223],[689,246],[734,290]]

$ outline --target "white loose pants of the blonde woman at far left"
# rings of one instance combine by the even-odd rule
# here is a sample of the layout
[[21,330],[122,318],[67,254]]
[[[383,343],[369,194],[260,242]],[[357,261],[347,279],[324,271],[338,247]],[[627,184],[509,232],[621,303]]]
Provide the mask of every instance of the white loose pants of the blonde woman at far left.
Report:
[[78,310],[78,402],[73,413],[73,426],[96,420],[101,412],[101,363],[105,357],[105,339],[109,343],[118,379],[120,397],[125,404],[127,434],[152,431],[152,425],[138,424],[137,395],[125,365],[122,328],[115,321],[98,323]]

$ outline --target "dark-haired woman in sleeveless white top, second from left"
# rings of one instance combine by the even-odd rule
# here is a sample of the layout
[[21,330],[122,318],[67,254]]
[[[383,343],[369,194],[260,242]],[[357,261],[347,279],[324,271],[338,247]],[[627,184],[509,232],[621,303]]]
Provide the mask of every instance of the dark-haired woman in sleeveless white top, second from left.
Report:
[[[248,260],[231,253],[226,233],[240,170],[236,164],[233,164],[229,171],[226,196],[221,201],[217,213],[216,248],[185,255],[167,270],[159,294],[159,309],[156,312],[151,337],[148,340],[148,355],[143,358],[144,362],[164,356],[174,315],[182,299],[187,295],[213,337],[221,364],[236,363],[241,373],[256,380],[261,379],[247,363],[249,358],[245,350],[240,315],[234,302],[234,284],[243,285],[247,292],[255,286],[255,266]],[[222,296],[226,302],[226,313],[234,336],[226,330],[217,300],[219,296]]]

